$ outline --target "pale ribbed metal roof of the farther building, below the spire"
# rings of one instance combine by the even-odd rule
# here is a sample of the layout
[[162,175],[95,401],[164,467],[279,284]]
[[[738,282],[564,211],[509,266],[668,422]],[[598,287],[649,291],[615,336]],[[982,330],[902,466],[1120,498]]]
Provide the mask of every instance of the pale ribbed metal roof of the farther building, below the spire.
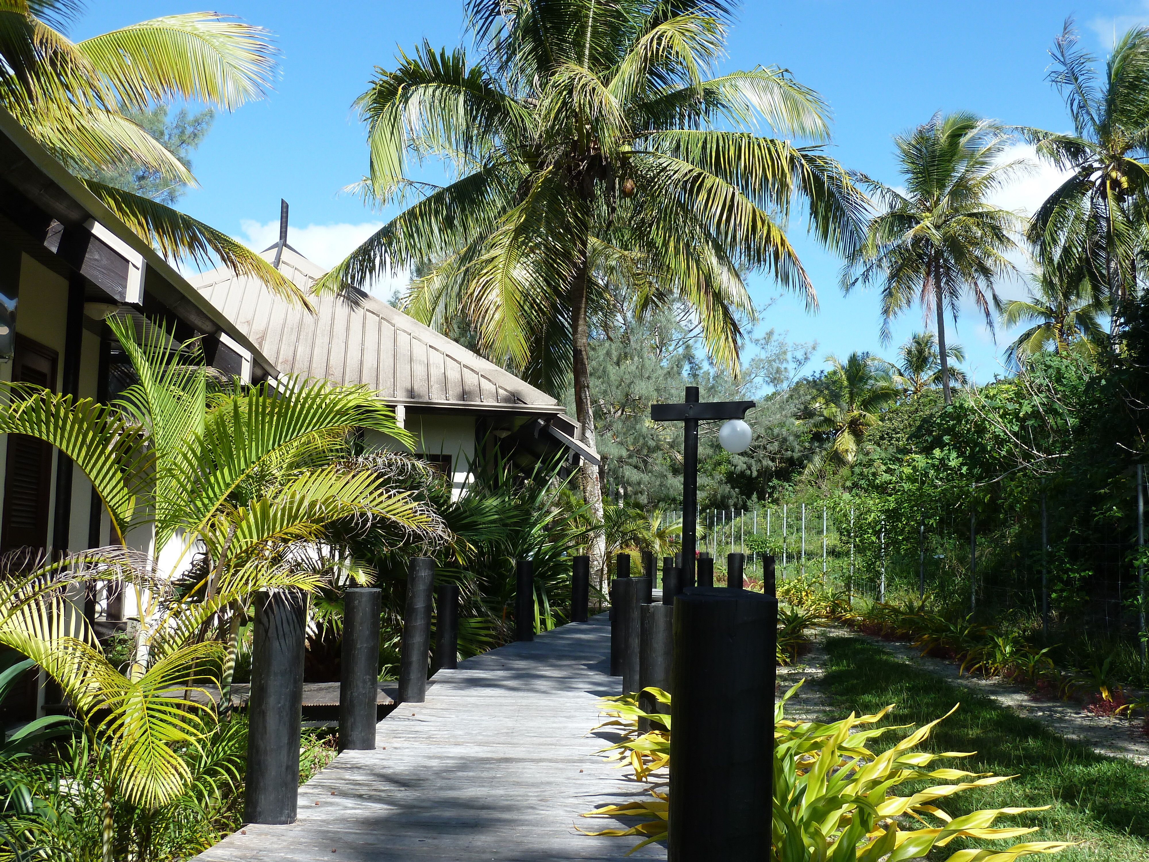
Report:
[[[270,259],[268,252],[264,256]],[[279,271],[309,291],[324,270],[286,246]],[[257,279],[216,269],[188,279],[280,375],[363,384],[411,407],[558,415],[546,392],[362,291],[313,298],[317,313],[273,297]]]

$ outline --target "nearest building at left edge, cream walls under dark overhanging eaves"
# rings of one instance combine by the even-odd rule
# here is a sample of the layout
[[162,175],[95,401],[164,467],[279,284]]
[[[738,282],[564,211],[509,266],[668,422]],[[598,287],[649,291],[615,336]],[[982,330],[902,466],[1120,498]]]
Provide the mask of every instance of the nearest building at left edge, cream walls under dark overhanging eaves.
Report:
[[[186,279],[0,110],[0,380],[106,400],[123,356],[105,322],[126,313],[203,336],[209,362],[246,380],[273,367]],[[0,552],[108,542],[91,483],[47,444],[0,434]],[[148,537],[133,537],[147,547]],[[86,608],[117,618],[110,597]],[[0,706],[0,724],[34,717],[44,686]]]

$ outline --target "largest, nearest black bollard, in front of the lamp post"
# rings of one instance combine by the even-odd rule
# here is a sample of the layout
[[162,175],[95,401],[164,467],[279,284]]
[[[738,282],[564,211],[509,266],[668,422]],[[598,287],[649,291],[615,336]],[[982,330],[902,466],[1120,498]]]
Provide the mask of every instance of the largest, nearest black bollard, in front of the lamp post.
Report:
[[[778,602],[733,590],[674,602],[669,862],[765,862]],[[731,661],[738,656],[738,661]]]

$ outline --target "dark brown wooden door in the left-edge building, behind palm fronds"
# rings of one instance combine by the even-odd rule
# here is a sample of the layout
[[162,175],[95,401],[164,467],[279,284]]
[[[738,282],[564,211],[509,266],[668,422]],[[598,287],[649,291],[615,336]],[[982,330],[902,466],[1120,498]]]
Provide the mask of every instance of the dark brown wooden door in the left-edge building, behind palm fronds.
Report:
[[[55,390],[56,352],[16,336],[11,379]],[[52,445],[34,437],[8,434],[0,551],[47,546],[51,499]]]

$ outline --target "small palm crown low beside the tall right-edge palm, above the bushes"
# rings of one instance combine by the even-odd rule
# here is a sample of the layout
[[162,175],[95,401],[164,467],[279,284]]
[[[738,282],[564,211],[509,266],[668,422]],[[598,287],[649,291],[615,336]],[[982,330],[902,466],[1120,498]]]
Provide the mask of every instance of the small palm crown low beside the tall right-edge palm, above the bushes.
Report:
[[1002,308],[1003,326],[1034,324],[1005,348],[1012,364],[1021,364],[1025,357],[1050,346],[1054,353],[1080,355],[1105,347],[1108,339],[1100,318],[1108,307],[1094,293],[1085,267],[1078,268],[1075,277],[1059,269],[1042,269],[1030,279],[1030,298],[1010,300]]

